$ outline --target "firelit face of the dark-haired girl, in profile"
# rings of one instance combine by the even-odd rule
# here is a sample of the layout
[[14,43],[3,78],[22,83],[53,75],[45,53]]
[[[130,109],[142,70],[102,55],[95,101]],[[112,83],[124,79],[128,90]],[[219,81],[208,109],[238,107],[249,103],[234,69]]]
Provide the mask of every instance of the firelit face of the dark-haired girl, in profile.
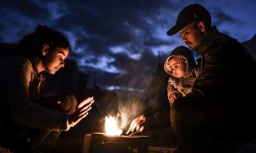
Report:
[[48,52],[42,59],[46,72],[54,75],[60,68],[64,67],[64,59],[67,58],[69,48],[56,48],[52,52]]

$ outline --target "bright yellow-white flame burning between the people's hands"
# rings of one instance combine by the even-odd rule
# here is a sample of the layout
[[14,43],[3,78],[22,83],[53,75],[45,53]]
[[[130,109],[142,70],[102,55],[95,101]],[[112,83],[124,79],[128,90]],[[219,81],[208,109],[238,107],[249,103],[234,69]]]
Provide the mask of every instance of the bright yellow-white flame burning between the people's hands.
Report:
[[120,135],[123,130],[118,128],[117,118],[113,116],[105,117],[106,135]]

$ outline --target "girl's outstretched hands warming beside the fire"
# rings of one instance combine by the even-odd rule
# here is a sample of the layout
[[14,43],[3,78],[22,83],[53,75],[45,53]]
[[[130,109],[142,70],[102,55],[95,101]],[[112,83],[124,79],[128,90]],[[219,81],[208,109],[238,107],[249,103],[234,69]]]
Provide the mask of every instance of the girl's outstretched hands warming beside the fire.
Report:
[[76,126],[76,124],[88,115],[93,102],[93,97],[89,97],[78,105],[78,110],[68,116],[68,124],[70,127]]

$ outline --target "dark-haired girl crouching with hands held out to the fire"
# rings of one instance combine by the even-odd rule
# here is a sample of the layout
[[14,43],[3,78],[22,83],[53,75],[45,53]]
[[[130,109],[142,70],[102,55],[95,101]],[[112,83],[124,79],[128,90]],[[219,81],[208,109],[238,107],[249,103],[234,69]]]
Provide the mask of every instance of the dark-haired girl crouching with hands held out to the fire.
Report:
[[64,67],[70,50],[70,43],[61,33],[38,26],[20,41],[19,48],[25,57],[0,67],[0,92],[4,98],[0,102],[0,146],[37,152],[49,149],[61,131],[68,131],[86,117],[94,100],[90,97],[77,105],[72,94],[42,96],[44,73],[53,75]]

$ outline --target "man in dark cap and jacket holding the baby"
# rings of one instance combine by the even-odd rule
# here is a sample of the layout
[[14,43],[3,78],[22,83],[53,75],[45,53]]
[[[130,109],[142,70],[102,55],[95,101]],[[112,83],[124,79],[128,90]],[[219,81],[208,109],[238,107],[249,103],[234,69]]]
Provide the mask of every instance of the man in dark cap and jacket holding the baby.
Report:
[[[236,39],[212,27],[210,13],[200,4],[180,12],[167,34],[177,32],[182,42],[202,55],[192,92],[175,100],[170,110],[177,152],[205,152],[199,148],[214,140],[253,139],[255,102],[250,88],[256,85],[256,62],[252,56]],[[138,131],[146,119],[136,119],[131,126]]]

